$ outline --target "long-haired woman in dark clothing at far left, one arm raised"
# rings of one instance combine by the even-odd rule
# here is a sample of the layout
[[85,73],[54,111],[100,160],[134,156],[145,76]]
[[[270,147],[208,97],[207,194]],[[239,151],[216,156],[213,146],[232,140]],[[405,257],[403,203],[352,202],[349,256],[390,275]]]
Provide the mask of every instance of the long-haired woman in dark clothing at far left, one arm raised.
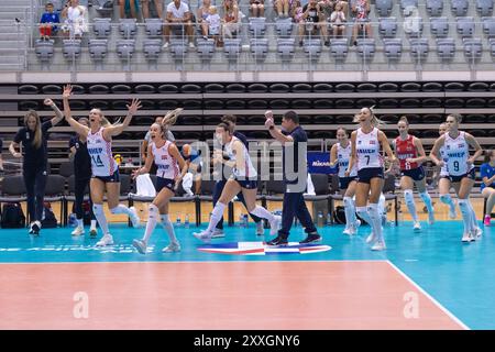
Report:
[[[64,118],[52,99],[45,99],[44,103],[55,111],[56,117],[41,123],[36,111],[28,111],[24,116],[24,127],[18,131],[9,146],[9,151],[14,157],[24,157],[22,172],[28,195],[28,213],[31,219],[30,233],[33,234],[38,234],[43,216],[48,164],[48,130]],[[21,143],[23,154],[15,151]]]

